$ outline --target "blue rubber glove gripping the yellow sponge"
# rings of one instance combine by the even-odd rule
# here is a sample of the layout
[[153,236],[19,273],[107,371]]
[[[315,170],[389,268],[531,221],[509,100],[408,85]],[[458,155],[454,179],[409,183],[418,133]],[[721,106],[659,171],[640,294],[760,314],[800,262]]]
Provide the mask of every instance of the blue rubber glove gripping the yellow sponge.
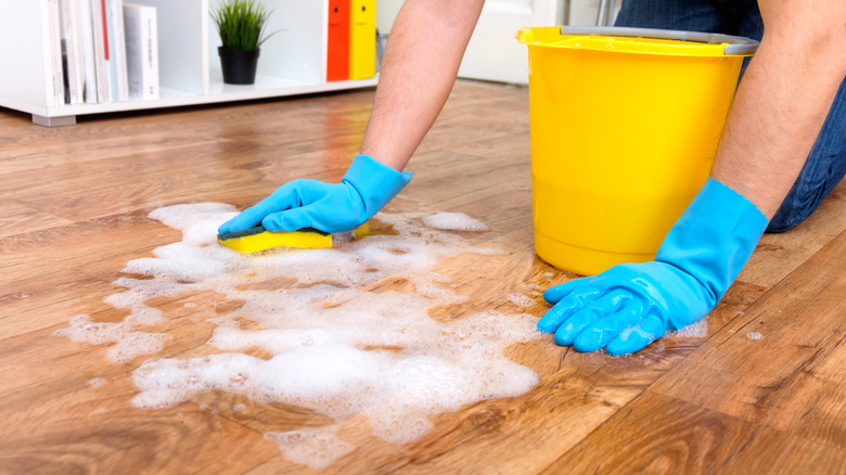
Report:
[[368,155],[356,155],[341,183],[298,179],[225,222],[226,234],[261,223],[273,232],[313,228],[332,233],[352,231],[375,215],[411,180]]

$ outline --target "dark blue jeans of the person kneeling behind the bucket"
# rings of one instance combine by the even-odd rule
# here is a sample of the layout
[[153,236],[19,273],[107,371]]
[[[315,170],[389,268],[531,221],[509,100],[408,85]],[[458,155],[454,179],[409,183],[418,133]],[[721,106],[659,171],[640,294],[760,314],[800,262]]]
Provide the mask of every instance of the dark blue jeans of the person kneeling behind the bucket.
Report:
[[[756,0],[624,0],[616,26],[721,33],[758,41],[764,35]],[[846,175],[845,125],[846,80],[768,232],[786,231],[804,221],[841,182]]]

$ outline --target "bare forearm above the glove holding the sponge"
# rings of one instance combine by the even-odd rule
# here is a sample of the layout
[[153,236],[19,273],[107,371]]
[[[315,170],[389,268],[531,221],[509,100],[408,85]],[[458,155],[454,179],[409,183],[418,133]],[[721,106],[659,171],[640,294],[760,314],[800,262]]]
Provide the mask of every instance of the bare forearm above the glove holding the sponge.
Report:
[[361,153],[402,170],[456,81],[484,0],[408,0],[392,29]]

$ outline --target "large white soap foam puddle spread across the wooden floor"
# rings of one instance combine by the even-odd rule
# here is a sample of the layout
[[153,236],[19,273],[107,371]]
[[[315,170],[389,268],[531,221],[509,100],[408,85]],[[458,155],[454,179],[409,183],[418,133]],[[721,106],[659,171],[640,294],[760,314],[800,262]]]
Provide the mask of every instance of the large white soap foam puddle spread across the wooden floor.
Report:
[[[235,214],[230,205],[210,203],[154,210],[151,218],[180,230],[183,239],[154,249],[154,257],[129,261],[114,282],[124,292],[106,303],[130,314],[116,323],[77,316],[55,332],[114,344],[107,358],[125,363],[162,351],[170,338],[143,331],[166,319],[151,299],[214,292],[243,301],[208,320],[217,328],[207,346],[219,352],[144,361],[133,372],[140,389],[134,407],[174,407],[223,390],[307,408],[335,424],[266,436],[292,461],[326,466],[355,449],[337,436],[354,416],[367,416],[374,436],[407,444],[432,431],[430,415],[518,396],[539,383],[534,371],[504,357],[509,346],[541,336],[536,317],[484,311],[447,323],[428,317],[434,307],[467,300],[449,275],[435,271],[441,258],[500,251],[418,224],[432,216],[381,214],[396,235],[333,236],[332,248],[243,255],[216,243],[217,227]],[[466,215],[448,218],[449,229],[487,229]],[[385,280],[408,285],[385,291]],[[535,304],[522,294],[508,298],[518,307]],[[181,311],[202,306],[184,304]],[[262,357],[254,356],[256,348]]]

